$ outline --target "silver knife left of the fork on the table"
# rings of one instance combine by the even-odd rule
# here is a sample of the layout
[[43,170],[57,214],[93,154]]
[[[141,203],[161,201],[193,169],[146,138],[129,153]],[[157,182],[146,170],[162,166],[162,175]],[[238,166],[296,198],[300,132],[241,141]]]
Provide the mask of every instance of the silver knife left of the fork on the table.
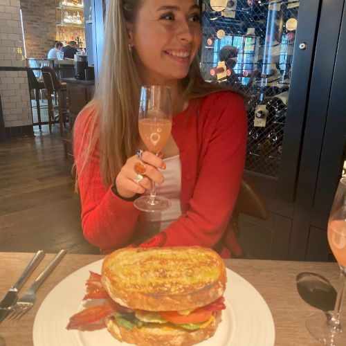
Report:
[[6,293],[5,297],[3,297],[3,300],[1,300],[0,323],[6,318],[6,316],[8,316],[8,313],[10,313],[10,306],[12,304],[15,304],[15,302],[17,302],[18,300],[19,289],[21,289],[21,286],[23,286],[24,282],[26,282],[30,274],[33,273],[34,269],[37,267],[37,264],[41,262],[43,257],[44,251],[37,251],[36,255],[33,257],[33,260],[31,260],[28,266],[26,266],[17,282],[12,285],[12,287],[8,290],[8,293]]

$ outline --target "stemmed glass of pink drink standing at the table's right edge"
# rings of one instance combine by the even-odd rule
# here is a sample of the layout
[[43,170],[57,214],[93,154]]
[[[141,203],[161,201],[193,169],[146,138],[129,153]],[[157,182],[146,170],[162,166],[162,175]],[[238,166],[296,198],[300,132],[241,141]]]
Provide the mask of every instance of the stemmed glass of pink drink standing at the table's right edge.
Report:
[[325,345],[346,345],[346,326],[340,323],[346,277],[346,178],[340,179],[328,220],[328,242],[340,267],[340,287],[334,311],[313,313],[306,325],[310,334]]

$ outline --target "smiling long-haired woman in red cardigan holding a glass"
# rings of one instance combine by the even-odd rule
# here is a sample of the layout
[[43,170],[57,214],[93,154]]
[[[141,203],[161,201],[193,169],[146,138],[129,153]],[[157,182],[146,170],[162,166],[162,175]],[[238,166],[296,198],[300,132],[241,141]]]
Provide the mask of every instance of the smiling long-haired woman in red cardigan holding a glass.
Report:
[[[129,244],[199,245],[227,257],[226,241],[241,253],[226,226],[244,169],[246,113],[240,95],[201,78],[199,16],[196,0],[110,1],[100,85],[78,116],[74,142],[84,237],[102,253]],[[174,117],[163,157],[145,151],[140,161],[143,84],[171,86]],[[179,201],[158,220],[133,205],[150,179]]]

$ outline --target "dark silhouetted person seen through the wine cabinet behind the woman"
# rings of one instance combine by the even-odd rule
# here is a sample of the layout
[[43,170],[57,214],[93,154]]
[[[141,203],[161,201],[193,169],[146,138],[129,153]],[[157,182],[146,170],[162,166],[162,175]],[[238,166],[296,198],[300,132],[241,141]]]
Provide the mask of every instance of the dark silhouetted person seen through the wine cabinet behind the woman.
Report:
[[224,46],[221,48],[219,53],[220,62],[225,62],[226,69],[230,70],[230,75],[227,75],[225,78],[219,80],[219,82],[224,82],[226,86],[233,87],[241,93],[248,93],[250,91],[251,86],[253,85],[253,81],[260,77],[260,71],[253,71],[251,75],[249,75],[249,80],[246,85],[242,84],[239,80],[237,73],[234,68],[237,64],[239,50],[235,46]]

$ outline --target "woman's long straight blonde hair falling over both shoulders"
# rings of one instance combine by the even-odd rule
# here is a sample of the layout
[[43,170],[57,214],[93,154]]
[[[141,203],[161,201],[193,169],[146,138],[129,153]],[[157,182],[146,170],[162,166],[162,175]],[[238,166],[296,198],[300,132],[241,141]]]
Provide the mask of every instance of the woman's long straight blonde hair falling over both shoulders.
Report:
[[[78,173],[82,174],[89,155],[99,142],[100,170],[105,186],[115,181],[127,158],[138,149],[137,116],[141,83],[127,41],[126,22],[136,21],[141,3],[142,0],[109,1],[100,82],[93,100],[84,108],[89,109],[93,116],[88,119],[90,132],[86,136],[86,150],[78,158],[82,161]],[[204,82],[195,58],[188,75],[180,81],[180,90],[185,98],[190,99],[224,88]],[[78,190],[78,179],[75,186]]]

